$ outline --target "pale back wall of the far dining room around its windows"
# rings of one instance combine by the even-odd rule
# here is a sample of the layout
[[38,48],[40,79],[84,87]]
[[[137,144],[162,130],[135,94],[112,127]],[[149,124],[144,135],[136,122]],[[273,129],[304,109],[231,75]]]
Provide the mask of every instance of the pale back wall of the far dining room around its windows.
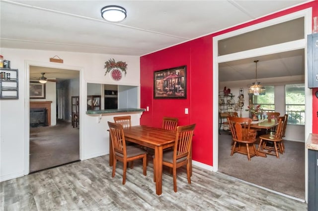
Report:
[[[281,114],[285,114],[285,84],[302,84],[305,83],[303,80],[304,76],[293,76],[293,77],[281,77],[281,78],[271,78],[271,79],[263,79],[263,86],[274,85],[275,90],[275,111],[280,112]],[[260,80],[258,80],[260,81]],[[239,88],[243,87],[244,89],[244,107],[242,111],[242,117],[248,117],[248,111],[245,111],[248,102],[248,85],[254,81],[231,81],[231,82],[220,82],[219,83],[219,91],[223,91],[224,87],[231,89],[231,93],[235,95],[234,100],[238,102],[239,96]],[[239,111],[238,111],[239,113]],[[285,140],[289,141],[298,141],[305,142],[305,126],[304,125],[293,125],[288,124],[286,127],[286,137]]]

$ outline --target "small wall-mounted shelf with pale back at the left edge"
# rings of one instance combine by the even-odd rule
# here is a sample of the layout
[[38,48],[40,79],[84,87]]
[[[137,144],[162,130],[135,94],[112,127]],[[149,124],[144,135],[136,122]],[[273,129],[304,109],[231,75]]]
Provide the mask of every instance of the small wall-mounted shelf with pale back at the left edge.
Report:
[[19,99],[18,70],[0,68],[0,73],[0,99]]

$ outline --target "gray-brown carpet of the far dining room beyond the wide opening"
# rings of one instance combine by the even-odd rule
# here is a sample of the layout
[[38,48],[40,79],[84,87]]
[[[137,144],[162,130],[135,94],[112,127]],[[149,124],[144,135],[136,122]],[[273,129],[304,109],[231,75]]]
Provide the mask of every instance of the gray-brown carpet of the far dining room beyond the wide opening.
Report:
[[[286,152],[267,158],[235,153],[231,157],[232,138],[226,132],[219,135],[219,171],[244,181],[305,199],[305,143],[284,141]],[[257,149],[258,145],[256,145]]]

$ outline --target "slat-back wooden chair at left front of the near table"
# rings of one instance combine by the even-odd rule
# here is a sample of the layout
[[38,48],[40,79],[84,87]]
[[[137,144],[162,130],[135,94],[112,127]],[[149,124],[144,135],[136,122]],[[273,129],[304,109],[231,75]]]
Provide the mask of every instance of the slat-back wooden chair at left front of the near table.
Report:
[[112,150],[114,154],[112,177],[115,176],[117,160],[123,162],[123,185],[126,183],[127,163],[136,159],[143,159],[143,173],[147,175],[147,151],[132,145],[126,145],[124,128],[119,123],[108,121]]

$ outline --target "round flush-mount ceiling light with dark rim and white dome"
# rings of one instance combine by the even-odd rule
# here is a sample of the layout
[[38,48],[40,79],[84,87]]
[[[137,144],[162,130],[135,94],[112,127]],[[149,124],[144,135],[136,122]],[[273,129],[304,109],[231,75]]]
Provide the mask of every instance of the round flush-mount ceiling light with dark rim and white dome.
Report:
[[116,5],[104,6],[100,12],[102,18],[110,22],[119,22],[127,17],[126,9]]

